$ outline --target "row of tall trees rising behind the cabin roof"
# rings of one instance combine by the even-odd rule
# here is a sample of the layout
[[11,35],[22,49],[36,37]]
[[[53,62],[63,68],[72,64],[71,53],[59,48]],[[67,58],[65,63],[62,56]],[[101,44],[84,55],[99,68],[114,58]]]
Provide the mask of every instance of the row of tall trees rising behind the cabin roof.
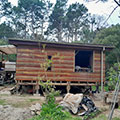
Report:
[[53,6],[50,0],[18,0],[18,6],[13,6],[1,0],[0,17],[7,17],[6,23],[13,30],[6,36],[15,32],[18,38],[91,43],[102,17],[91,16],[83,4],[67,3],[68,0],[57,0]]

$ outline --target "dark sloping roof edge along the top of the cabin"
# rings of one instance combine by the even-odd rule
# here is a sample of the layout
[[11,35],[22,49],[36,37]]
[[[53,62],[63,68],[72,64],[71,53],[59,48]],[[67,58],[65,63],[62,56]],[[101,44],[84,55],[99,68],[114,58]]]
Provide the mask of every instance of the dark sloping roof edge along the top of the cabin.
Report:
[[18,45],[38,46],[38,45],[46,44],[46,46],[49,46],[49,47],[59,47],[59,48],[68,47],[68,48],[75,48],[75,49],[89,48],[89,49],[102,50],[103,48],[105,48],[105,50],[111,50],[114,48],[113,46],[103,46],[103,45],[94,45],[94,44],[70,44],[70,43],[55,43],[55,42],[46,42],[46,41],[39,42],[39,41],[30,41],[30,40],[28,41],[28,40],[21,40],[21,39],[9,39],[9,43],[15,46],[18,46]]

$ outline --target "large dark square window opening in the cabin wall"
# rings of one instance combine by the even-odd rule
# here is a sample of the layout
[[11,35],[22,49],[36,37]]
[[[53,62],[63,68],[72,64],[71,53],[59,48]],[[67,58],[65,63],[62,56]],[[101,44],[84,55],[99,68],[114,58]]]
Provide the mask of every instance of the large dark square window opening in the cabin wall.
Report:
[[75,71],[90,72],[93,68],[93,51],[75,51]]

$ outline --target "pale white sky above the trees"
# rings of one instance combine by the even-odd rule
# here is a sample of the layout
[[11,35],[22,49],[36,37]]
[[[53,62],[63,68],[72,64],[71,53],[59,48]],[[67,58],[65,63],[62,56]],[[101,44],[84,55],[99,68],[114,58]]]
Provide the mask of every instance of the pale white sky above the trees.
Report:
[[[8,0],[13,5],[17,5],[18,0]],[[52,3],[55,3],[56,0],[50,0]],[[92,1],[92,0],[91,0]],[[96,0],[97,1],[97,0]],[[106,18],[109,16],[109,14],[112,12],[112,10],[117,6],[117,4],[113,0],[108,0],[108,2],[102,3],[102,2],[85,2],[85,0],[68,0],[68,4],[72,4],[75,2],[79,2],[81,4],[84,4],[88,8],[88,12],[91,14],[98,14],[103,15]],[[111,24],[120,24],[120,7],[118,7],[112,16],[108,19],[108,23]]]

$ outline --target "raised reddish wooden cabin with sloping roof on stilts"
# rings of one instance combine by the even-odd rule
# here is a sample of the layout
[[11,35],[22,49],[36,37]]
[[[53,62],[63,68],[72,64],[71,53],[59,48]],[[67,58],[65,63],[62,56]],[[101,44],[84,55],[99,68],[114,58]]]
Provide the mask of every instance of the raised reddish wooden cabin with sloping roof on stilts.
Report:
[[[38,42],[10,39],[17,48],[16,81],[33,85],[50,80],[52,85],[92,86],[105,81],[105,51],[111,46]],[[49,64],[47,64],[49,63]]]

